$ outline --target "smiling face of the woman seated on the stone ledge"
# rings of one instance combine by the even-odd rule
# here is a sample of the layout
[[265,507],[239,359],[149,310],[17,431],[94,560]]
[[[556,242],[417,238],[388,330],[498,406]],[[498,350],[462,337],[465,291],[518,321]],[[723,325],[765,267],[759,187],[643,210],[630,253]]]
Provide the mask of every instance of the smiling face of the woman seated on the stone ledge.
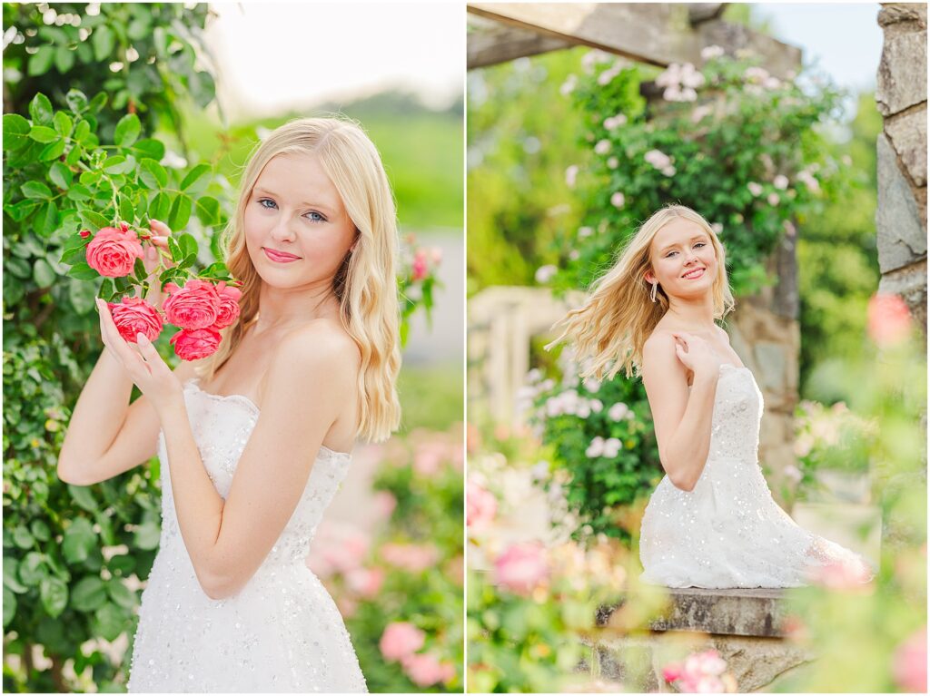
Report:
[[649,248],[649,260],[652,270],[646,271],[645,280],[650,284],[658,281],[666,295],[702,295],[711,290],[717,277],[717,256],[710,235],[683,217],[658,230]]

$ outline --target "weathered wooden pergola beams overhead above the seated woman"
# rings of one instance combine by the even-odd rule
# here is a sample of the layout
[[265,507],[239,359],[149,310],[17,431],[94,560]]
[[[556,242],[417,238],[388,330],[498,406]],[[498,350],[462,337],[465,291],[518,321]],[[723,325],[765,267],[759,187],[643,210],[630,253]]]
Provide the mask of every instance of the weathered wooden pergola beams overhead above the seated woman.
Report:
[[[474,16],[555,39],[562,46],[534,44],[523,34],[519,40],[502,44],[496,59],[493,34],[482,40],[482,32],[472,32],[468,66],[481,67],[579,44],[659,67],[684,62],[699,65],[703,62],[700,49],[716,44],[728,53],[737,48],[759,53],[766,70],[778,77],[798,69],[800,48],[720,20],[721,10],[722,4],[710,3],[694,7],[675,3],[470,3],[468,11]],[[533,53],[521,53],[521,45]]]

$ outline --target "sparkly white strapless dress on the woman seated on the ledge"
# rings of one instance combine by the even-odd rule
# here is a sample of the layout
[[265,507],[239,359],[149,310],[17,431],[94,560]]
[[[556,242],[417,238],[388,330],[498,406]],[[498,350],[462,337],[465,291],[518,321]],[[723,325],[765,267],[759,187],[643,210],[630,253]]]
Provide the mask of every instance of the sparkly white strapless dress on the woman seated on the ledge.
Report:
[[721,365],[700,479],[686,492],[664,477],[645,508],[644,583],[795,587],[834,563],[862,582],[872,577],[868,561],[802,529],[772,499],[758,460],[763,408],[751,371]]

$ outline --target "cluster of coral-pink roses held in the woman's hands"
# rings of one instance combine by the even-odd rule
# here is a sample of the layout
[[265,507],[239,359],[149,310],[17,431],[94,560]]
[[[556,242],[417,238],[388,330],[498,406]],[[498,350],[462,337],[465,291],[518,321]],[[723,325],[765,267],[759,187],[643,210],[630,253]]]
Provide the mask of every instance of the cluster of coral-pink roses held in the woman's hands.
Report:
[[[106,278],[125,278],[135,268],[136,259],[145,256],[138,235],[126,222],[118,227],[101,228],[91,236],[81,230],[86,243],[87,266]],[[138,335],[154,341],[165,322],[180,331],[171,337],[171,345],[181,360],[195,361],[213,355],[219,348],[219,330],[232,326],[239,318],[239,298],[242,292],[220,281],[216,285],[191,279],[179,287],[173,282],[165,286],[168,295],[162,312],[140,297],[124,297],[119,303],[108,303],[113,323],[128,343],[136,343]]]

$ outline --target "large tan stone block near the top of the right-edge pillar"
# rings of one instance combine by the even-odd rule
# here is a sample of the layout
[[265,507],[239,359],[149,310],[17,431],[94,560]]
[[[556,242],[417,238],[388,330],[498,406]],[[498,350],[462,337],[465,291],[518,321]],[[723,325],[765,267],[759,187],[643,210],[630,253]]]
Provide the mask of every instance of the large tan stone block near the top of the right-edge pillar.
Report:
[[886,33],[878,65],[875,101],[883,116],[902,112],[927,98],[927,33]]

